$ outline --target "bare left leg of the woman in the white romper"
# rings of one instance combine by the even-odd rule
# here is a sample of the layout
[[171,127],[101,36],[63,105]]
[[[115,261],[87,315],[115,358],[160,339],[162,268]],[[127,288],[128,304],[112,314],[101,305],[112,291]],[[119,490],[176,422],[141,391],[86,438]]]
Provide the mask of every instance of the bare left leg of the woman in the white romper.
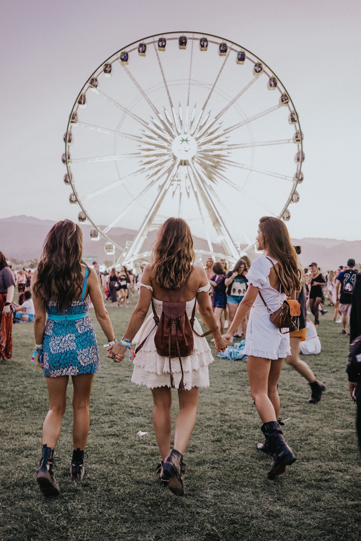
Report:
[[[247,368],[252,398],[262,423],[277,421],[278,417],[276,417],[274,406],[268,398],[268,376],[271,370],[271,360],[248,355]],[[277,403],[275,405],[277,407]]]

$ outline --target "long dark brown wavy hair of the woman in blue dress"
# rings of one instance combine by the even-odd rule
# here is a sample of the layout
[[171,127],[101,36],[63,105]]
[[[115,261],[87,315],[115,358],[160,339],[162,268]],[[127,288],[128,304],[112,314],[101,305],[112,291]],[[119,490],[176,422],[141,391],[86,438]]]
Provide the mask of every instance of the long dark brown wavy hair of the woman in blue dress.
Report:
[[77,293],[82,291],[81,263],[83,233],[71,220],[57,222],[50,229],[43,245],[37,266],[37,278],[32,286],[36,295],[42,296],[45,306],[56,297],[58,311],[65,312]]

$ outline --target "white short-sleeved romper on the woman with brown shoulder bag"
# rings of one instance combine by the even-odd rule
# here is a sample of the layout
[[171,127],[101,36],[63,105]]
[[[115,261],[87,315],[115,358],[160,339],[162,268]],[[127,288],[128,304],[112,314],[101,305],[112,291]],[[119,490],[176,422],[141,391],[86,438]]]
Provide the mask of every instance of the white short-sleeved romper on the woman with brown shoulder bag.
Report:
[[[272,259],[274,265],[277,263],[275,259],[270,259]],[[282,306],[286,294],[271,287],[268,279],[271,268],[271,261],[261,255],[253,261],[246,278],[248,285],[252,283],[254,287],[261,289],[262,297],[274,312]],[[279,329],[273,325],[270,321],[270,314],[260,295],[257,295],[251,308],[244,353],[254,357],[264,357],[265,359],[283,359],[291,354],[290,334],[281,334]]]

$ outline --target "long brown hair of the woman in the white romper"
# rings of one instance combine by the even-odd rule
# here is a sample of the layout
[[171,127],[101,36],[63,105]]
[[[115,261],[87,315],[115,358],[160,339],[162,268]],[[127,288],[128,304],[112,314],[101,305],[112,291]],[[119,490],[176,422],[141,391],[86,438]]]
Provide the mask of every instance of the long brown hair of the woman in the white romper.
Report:
[[284,222],[273,216],[263,216],[259,229],[268,253],[278,261],[278,276],[284,293],[291,295],[292,291],[301,291],[301,266]]

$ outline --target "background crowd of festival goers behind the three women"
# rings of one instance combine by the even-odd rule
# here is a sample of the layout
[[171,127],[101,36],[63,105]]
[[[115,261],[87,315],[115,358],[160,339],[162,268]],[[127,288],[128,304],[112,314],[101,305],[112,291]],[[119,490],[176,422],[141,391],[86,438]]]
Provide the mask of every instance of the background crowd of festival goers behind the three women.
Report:
[[[300,253],[300,247],[295,247]],[[220,332],[223,334],[228,326],[231,326],[237,308],[247,291],[246,274],[251,267],[251,261],[247,256],[235,263],[233,268],[228,270],[225,259],[214,262],[208,258],[205,265],[201,260],[196,260],[196,266],[204,266],[211,288],[209,289],[209,302],[214,311],[215,319]],[[350,335],[350,314],[352,306],[352,293],[356,283],[358,271],[355,269],[354,259],[349,259],[346,265],[340,265],[336,271],[321,273],[316,262],[312,262],[309,268],[304,269],[304,297],[305,309],[310,310],[314,316],[314,324],[309,318],[305,319],[305,333],[301,337],[306,340],[317,338],[315,327],[319,325],[319,314],[328,312],[324,307],[326,301],[328,306],[334,308],[332,321],[342,324],[342,334]],[[128,308],[134,304],[134,294],[139,289],[141,275],[134,273],[131,269],[121,266],[117,271],[115,267],[108,271],[101,272],[96,261],[91,267],[94,268],[104,291],[106,300],[111,301],[121,308]],[[25,268],[12,270],[10,263],[6,262],[4,254],[0,252],[0,361],[12,357],[12,334],[11,326],[17,322],[34,321],[34,304],[31,298],[32,272]],[[14,301],[15,287],[18,291],[17,302]],[[307,312],[307,315],[311,315]],[[232,341],[238,338],[245,338],[247,331],[247,317],[241,322],[237,331],[232,334]],[[316,345],[317,344],[317,345]],[[302,353],[319,353],[319,340],[301,344]],[[319,351],[318,351],[319,349]]]

